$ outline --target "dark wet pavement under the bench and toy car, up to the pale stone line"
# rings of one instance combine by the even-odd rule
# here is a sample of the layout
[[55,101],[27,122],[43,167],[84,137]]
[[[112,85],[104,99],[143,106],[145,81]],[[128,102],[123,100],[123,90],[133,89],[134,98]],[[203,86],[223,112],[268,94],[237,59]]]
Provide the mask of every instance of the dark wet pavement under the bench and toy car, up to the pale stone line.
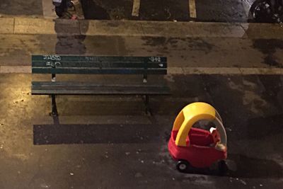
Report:
[[[58,119],[30,74],[0,77],[0,188],[282,187],[282,76],[168,75],[173,95],[152,97],[151,117],[137,96],[59,96]],[[195,101],[224,120],[225,176],[178,173],[168,155],[175,115]]]

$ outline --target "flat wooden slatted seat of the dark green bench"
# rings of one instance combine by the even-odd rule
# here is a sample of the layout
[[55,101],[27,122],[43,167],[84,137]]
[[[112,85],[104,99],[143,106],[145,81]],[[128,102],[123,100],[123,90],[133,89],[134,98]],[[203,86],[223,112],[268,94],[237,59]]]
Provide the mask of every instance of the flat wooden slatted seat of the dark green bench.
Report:
[[33,81],[33,95],[169,95],[168,86],[99,85],[88,82]]

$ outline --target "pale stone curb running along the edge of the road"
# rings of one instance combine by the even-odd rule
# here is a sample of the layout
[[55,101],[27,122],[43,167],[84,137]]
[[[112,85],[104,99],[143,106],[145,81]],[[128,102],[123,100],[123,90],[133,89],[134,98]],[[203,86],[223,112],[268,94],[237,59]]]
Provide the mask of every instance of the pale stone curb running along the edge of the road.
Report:
[[88,21],[16,17],[0,18],[0,25],[0,34],[283,38],[283,28],[270,23]]

